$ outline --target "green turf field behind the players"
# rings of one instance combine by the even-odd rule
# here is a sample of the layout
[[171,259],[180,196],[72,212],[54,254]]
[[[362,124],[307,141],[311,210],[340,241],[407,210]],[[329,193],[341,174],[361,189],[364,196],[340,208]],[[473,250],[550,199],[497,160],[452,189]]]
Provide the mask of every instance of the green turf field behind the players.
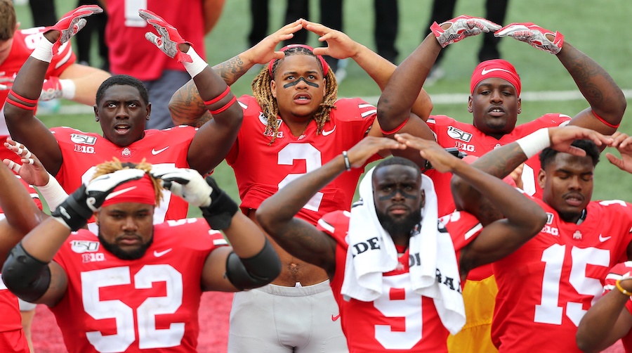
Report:
[[[287,0],[271,0],[272,18],[269,32],[274,32],[282,25],[282,13]],[[395,1],[395,0],[394,0]],[[74,0],[57,0],[57,15],[74,7]],[[317,1],[311,1],[312,14],[318,20]],[[345,0],[344,30],[353,39],[374,48],[372,37],[374,11],[373,1]],[[399,60],[411,53],[421,42],[430,12],[430,0],[400,0],[400,35],[397,48],[400,50]],[[227,0],[224,12],[213,32],[206,37],[207,58],[211,65],[227,60],[246,49],[246,35],[250,27],[248,0]],[[31,20],[27,6],[16,6],[18,20],[22,28],[30,26]],[[183,11],[187,11],[183,9]],[[473,16],[484,15],[484,0],[459,1],[456,14]],[[626,91],[628,105],[632,105],[632,41],[624,36],[625,25],[632,15],[629,0],[593,0],[593,1],[511,1],[508,7],[505,24],[512,22],[533,22],[550,30],[558,30],[565,35],[565,41],[584,51],[610,72],[614,80]],[[434,86],[428,87],[431,96],[443,94],[467,94],[471,71],[477,64],[476,53],[480,46],[480,37],[466,39],[451,46],[442,62],[446,76]],[[134,41],[144,38],[130,39]],[[310,37],[308,44],[316,45],[316,37]],[[520,122],[539,117],[544,113],[560,112],[574,115],[588,107],[581,99],[570,101],[529,101],[526,92],[541,91],[577,91],[570,75],[559,61],[552,55],[533,49],[531,46],[506,38],[501,41],[500,50],[503,58],[510,60],[522,78],[522,115]],[[150,53],[150,55],[159,55]],[[93,58],[98,57],[96,49]],[[98,65],[99,63],[93,63]],[[348,75],[341,83],[340,96],[376,97],[379,89],[355,63],[348,63]],[[232,91],[237,96],[250,94],[250,82],[253,73],[244,75]],[[371,101],[376,103],[376,101]],[[64,103],[70,104],[70,103]],[[89,111],[89,109],[88,109]],[[624,117],[620,130],[632,134],[632,108]],[[471,115],[466,110],[466,98],[461,103],[435,103],[435,114],[450,115],[466,122]],[[93,115],[46,115],[41,117],[48,126],[72,126],[84,131],[100,131]],[[603,156],[596,172],[595,192],[593,199],[617,198],[632,201],[632,176],[612,167]],[[220,185],[237,197],[237,187],[232,176],[232,169],[225,164],[216,170]]]

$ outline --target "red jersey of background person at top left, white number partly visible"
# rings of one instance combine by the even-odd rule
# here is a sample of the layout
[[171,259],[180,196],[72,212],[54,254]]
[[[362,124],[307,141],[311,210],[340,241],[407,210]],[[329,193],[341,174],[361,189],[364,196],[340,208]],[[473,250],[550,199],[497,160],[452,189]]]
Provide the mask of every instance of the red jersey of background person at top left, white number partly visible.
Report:
[[105,0],[105,40],[110,48],[112,73],[151,81],[158,79],[163,70],[185,71],[177,60],[169,58],[145,40],[146,32],[157,32],[140,18],[140,9],[150,10],[164,18],[178,29],[180,36],[195,46],[195,52],[200,57],[206,58],[203,3],[202,0]]

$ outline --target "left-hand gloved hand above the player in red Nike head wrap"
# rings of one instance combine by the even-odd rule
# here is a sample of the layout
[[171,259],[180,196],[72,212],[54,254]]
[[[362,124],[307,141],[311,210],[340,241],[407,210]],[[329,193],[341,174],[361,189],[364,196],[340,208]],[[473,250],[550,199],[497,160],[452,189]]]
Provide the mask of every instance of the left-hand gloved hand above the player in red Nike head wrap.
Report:
[[500,25],[485,20],[485,18],[470,17],[468,15],[460,15],[441,25],[435,22],[430,26],[430,30],[433,31],[442,48],[466,37],[472,37],[482,32],[494,32],[500,28]]

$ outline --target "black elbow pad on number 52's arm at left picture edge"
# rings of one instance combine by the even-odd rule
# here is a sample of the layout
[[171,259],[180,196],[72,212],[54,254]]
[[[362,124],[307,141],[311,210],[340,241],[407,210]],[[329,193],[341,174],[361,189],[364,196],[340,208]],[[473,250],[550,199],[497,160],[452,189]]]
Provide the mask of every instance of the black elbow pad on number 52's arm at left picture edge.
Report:
[[34,302],[41,298],[51,284],[48,264],[29,255],[22,243],[15,245],[2,267],[2,281],[11,293],[21,300]]

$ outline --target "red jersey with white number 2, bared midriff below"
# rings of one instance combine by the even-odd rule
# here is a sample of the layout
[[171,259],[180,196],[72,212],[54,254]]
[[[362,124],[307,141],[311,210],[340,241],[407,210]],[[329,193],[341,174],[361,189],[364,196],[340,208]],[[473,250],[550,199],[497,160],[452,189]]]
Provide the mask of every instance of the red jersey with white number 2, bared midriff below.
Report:
[[[373,105],[360,98],[340,99],[320,135],[316,135],[313,120],[301,136],[294,136],[279,119],[277,139],[269,146],[272,137],[266,135],[267,122],[255,98],[242,96],[239,104],[244,109],[244,122],[226,161],[235,170],[244,213],[257,209],[263,200],[290,181],[355,146],[367,135],[377,112]],[[379,155],[375,155],[369,162],[378,158]],[[341,174],[317,193],[297,216],[316,224],[323,214],[349,210],[362,172],[364,168],[354,168]]]

